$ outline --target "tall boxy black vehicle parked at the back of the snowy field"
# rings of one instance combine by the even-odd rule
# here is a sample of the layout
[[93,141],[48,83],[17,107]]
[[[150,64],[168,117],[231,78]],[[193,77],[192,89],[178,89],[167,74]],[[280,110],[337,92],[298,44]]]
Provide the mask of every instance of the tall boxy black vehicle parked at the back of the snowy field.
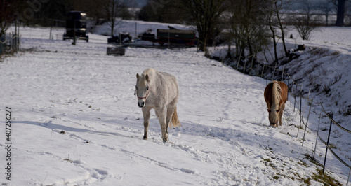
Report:
[[86,35],[86,14],[78,11],[67,13],[66,33],[63,34],[63,40],[77,39],[89,41],[89,36]]

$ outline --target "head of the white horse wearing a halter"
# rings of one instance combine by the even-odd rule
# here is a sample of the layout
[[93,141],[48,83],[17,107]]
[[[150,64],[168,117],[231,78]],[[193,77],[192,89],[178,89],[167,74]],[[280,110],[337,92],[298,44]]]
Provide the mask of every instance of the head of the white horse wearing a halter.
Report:
[[150,94],[150,77],[146,74],[136,74],[135,94],[138,96],[138,106],[144,108],[146,98]]

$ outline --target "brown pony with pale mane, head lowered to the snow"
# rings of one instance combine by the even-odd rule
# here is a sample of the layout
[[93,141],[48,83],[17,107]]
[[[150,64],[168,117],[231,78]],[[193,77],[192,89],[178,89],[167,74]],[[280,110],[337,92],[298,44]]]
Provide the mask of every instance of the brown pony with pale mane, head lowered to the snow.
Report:
[[288,86],[284,82],[274,80],[265,87],[265,102],[272,127],[282,126],[282,115],[287,99]]

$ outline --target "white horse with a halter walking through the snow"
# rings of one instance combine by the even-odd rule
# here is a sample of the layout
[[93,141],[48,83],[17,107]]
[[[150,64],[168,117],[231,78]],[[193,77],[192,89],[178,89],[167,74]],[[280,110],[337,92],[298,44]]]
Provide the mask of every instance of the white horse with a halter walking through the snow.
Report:
[[180,126],[177,115],[177,101],[179,96],[178,82],[169,73],[155,69],[145,69],[141,75],[136,74],[135,94],[138,96],[138,106],[143,111],[144,139],[147,140],[150,110],[154,108],[161,125],[162,139],[168,140],[168,127]]

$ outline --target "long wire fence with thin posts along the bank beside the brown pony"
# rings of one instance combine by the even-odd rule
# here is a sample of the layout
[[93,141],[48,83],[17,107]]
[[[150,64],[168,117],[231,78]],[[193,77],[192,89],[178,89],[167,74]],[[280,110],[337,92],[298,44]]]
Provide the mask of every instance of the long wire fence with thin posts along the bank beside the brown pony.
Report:
[[[333,156],[336,157],[336,159],[338,159],[339,162],[341,162],[347,168],[350,169],[350,171],[348,173],[348,177],[347,177],[347,183],[346,183],[346,185],[348,185],[349,180],[350,180],[350,174],[351,174],[351,164],[347,164],[345,162],[345,160],[340,158],[340,156],[337,155],[336,152],[334,152],[333,147],[331,145],[329,145],[329,139],[330,139],[330,135],[331,135],[331,126],[332,125],[335,125],[339,129],[342,129],[343,131],[347,132],[348,134],[351,134],[351,130],[346,129],[345,127],[342,127],[340,124],[338,124],[338,122],[333,120],[333,113],[326,112],[326,110],[324,109],[323,103],[318,103],[316,101],[313,101],[313,99],[310,98],[311,89],[308,91],[307,96],[303,96],[303,92],[304,92],[303,91],[303,83],[302,84],[297,83],[296,80],[294,78],[292,78],[289,73],[285,73],[284,66],[283,66],[283,69],[279,71],[279,70],[277,70],[277,64],[275,64],[274,66],[270,66],[267,64],[258,63],[258,64],[256,64],[256,66],[254,66],[255,63],[253,60],[254,60],[253,57],[251,58],[251,62],[249,60],[246,60],[244,62],[240,62],[240,59],[239,59],[239,62],[237,62],[237,64],[231,64],[231,66],[234,69],[237,69],[238,71],[249,74],[250,76],[260,76],[261,78],[265,78],[266,80],[270,78],[270,80],[280,79],[281,81],[284,81],[284,77],[286,77],[285,81],[288,81],[287,85],[288,85],[289,90],[290,90],[290,94],[291,94],[290,97],[293,97],[293,99],[294,99],[293,100],[293,104],[294,104],[293,110],[295,112],[296,108],[298,109],[299,120],[300,120],[300,126],[298,127],[298,134],[300,132],[300,129],[304,129],[302,145],[304,145],[304,142],[306,141],[305,134],[306,134],[307,129],[310,129],[311,131],[316,132],[317,136],[316,136],[316,143],[314,146],[313,159],[315,157],[315,152],[316,152],[316,148],[317,148],[317,141],[319,139],[326,146],[325,156],[324,156],[324,164],[323,164],[323,173],[324,173],[324,170],[326,167],[326,157],[327,157],[327,153],[329,150],[333,154]],[[272,72],[272,73],[270,73],[270,72]],[[288,93],[288,97],[289,97],[289,93]],[[302,102],[303,99],[305,99],[305,106],[303,106],[303,102]],[[290,103],[291,102],[292,102],[292,100],[290,101]],[[308,103],[308,106],[310,106],[310,108],[307,107],[307,103]],[[310,118],[311,108],[316,107],[316,106],[320,106],[320,108],[321,108],[321,111],[319,113],[319,124],[320,124],[320,119],[323,116],[330,120],[329,135],[328,135],[327,141],[324,141],[323,138],[319,135],[319,124],[318,124],[317,130],[311,129],[307,125],[308,120]],[[303,116],[304,116],[306,108],[308,109],[308,115],[307,115],[307,119],[305,120]],[[298,134],[296,135],[297,138],[298,138]]]

